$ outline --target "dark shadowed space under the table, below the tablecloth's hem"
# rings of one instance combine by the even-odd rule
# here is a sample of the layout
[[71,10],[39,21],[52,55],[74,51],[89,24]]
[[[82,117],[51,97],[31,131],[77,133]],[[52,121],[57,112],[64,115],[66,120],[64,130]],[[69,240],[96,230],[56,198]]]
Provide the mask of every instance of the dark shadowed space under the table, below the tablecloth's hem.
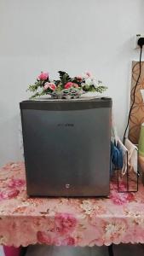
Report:
[[[114,256],[144,256],[144,245],[113,246]],[[107,247],[30,246],[26,256],[108,256]]]

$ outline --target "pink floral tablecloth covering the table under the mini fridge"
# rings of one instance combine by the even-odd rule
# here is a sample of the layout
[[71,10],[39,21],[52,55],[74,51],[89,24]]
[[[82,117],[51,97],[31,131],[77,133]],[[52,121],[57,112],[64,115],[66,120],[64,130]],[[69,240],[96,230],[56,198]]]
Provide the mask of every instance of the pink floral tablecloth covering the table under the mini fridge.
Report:
[[[123,186],[123,184],[122,184]],[[29,198],[25,166],[10,163],[0,170],[0,244],[94,246],[144,243],[144,187],[109,198]]]

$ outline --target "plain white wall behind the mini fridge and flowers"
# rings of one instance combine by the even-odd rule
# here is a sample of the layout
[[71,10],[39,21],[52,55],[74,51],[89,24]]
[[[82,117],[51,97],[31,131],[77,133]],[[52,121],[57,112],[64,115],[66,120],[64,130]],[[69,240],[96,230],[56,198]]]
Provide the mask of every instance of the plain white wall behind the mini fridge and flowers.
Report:
[[0,165],[20,160],[19,102],[41,70],[91,71],[107,84],[118,134],[129,102],[143,0],[0,0]]

